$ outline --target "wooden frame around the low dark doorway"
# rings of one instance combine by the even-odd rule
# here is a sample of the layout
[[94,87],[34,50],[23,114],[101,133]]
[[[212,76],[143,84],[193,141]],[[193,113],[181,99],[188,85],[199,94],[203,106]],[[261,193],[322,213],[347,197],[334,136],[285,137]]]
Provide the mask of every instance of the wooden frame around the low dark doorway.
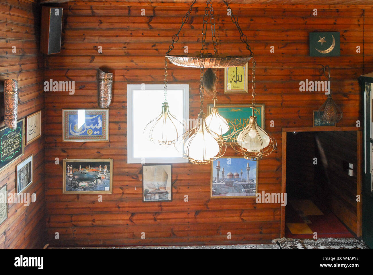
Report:
[[[357,195],[362,191],[362,146],[363,146],[363,132],[360,127],[335,127],[335,126],[317,126],[317,127],[297,127],[297,128],[282,128],[282,172],[281,172],[281,193],[286,192],[286,134],[288,132],[330,132],[330,131],[357,131],[357,168],[356,168],[356,181],[357,181]],[[280,219],[280,237],[285,237],[285,207],[281,206],[281,219]],[[361,222],[362,222],[362,203],[357,202],[356,208],[356,235],[361,237]]]

